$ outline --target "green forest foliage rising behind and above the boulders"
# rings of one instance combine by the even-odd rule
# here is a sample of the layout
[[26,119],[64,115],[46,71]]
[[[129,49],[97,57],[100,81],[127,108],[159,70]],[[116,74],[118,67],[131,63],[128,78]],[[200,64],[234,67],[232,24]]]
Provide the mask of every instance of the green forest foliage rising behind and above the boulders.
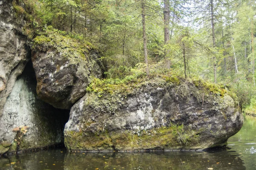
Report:
[[[125,80],[129,76],[134,77],[129,83],[135,85],[143,84],[143,81],[152,77],[166,76],[173,77],[167,81],[176,82],[179,85],[177,90],[182,91],[182,96],[186,96],[190,88],[197,88],[192,85],[196,77],[213,82],[212,68],[216,62],[217,82],[220,85],[232,86],[228,93],[237,93],[243,108],[249,107],[255,95],[255,2],[246,0],[242,4],[225,1],[223,8],[219,7],[220,2],[214,2],[215,48],[212,48],[209,6],[205,6],[204,11],[199,10],[199,17],[189,8],[187,10],[190,12],[183,11],[182,6],[187,4],[187,1],[172,3],[169,27],[172,35],[169,42],[164,44],[163,2],[145,0],[145,3],[150,75],[148,78],[138,78],[134,70],[144,75],[146,68],[140,1],[12,1],[17,21],[24,24],[24,34],[29,41],[33,40],[33,44],[28,42],[33,45],[33,50],[46,51],[56,48],[66,57],[86,57],[88,51],[99,49],[107,67],[105,77],[110,79],[110,82],[116,82],[109,84],[104,80],[108,86],[113,85],[111,88],[116,85],[120,86],[117,89],[122,89],[121,86],[129,82]],[[204,6],[204,3],[197,1],[194,5]],[[206,17],[201,17],[202,15]],[[186,24],[182,18],[191,18],[194,22],[184,26]],[[23,22],[24,20],[26,22]],[[195,24],[199,24],[200,28]],[[235,71],[235,54],[238,73]],[[188,80],[182,80],[184,71],[189,77]],[[110,87],[108,90],[112,93]],[[200,86],[200,89],[202,87],[204,85]],[[95,90],[90,88],[92,87],[89,87],[88,91]],[[125,88],[127,87],[123,87],[123,91]],[[218,88],[206,89],[195,94],[198,99],[208,93],[221,96],[224,94],[216,90]]]

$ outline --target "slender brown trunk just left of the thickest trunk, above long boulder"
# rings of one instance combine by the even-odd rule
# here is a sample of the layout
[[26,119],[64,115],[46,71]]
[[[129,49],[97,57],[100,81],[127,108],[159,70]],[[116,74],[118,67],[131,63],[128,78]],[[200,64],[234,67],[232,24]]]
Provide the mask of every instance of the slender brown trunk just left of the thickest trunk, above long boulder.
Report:
[[146,35],[146,23],[145,23],[145,2],[144,2],[144,0],[141,0],[141,9],[142,9],[143,48],[144,48],[144,57],[145,57],[145,64],[146,64],[146,74],[147,74],[147,76],[149,76],[147,35]]

